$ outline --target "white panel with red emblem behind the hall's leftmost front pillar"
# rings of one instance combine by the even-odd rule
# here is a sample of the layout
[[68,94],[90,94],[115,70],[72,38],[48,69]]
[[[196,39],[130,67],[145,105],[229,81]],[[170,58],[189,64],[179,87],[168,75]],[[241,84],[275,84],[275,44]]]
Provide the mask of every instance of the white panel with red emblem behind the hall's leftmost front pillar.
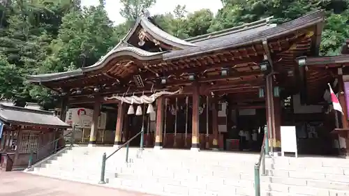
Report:
[[[94,116],[94,110],[88,108],[71,108],[66,113],[66,123],[73,124],[77,128],[91,128],[92,119]],[[101,112],[98,117],[98,129],[105,129],[105,122],[107,121],[107,114]]]

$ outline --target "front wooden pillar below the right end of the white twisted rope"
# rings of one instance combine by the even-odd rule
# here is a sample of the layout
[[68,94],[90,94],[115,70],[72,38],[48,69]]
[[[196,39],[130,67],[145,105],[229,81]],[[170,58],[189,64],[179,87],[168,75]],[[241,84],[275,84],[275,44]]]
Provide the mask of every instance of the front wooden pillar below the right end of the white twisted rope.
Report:
[[165,114],[164,105],[165,98],[159,97],[156,100],[156,130],[154,149],[163,148],[163,114]]

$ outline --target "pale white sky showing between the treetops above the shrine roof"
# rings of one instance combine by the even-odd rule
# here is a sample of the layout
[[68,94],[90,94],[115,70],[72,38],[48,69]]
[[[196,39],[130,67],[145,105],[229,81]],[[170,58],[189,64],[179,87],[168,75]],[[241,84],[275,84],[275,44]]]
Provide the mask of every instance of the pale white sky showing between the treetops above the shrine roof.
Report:
[[[98,0],[81,0],[82,6],[96,6]],[[124,18],[119,14],[121,4],[118,0],[105,0],[105,9],[114,24],[124,22]],[[157,0],[149,11],[151,15],[169,13],[174,10],[177,5],[186,6],[189,13],[196,10],[209,8],[213,13],[222,7],[221,0]]]

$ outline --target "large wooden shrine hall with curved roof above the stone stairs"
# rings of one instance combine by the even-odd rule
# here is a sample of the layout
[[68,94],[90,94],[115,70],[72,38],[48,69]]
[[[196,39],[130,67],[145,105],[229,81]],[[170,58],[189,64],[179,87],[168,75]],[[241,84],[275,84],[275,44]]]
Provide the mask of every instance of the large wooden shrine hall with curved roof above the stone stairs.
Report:
[[[342,57],[329,57],[332,63],[322,62],[327,57],[314,57],[324,25],[322,10],[280,25],[271,19],[181,40],[139,17],[124,39],[94,65],[28,80],[59,93],[63,116],[68,107],[94,110],[91,145],[96,144],[99,113],[114,108],[109,112],[117,116],[109,121],[116,130],[116,145],[144,126],[147,146],[233,149],[239,130],[254,133],[267,126],[269,144],[278,152],[281,126],[297,126],[300,133],[311,126],[324,134],[302,137],[299,145],[304,153],[318,153],[309,149],[324,142],[332,146],[327,140],[335,126],[325,123],[329,103],[324,93],[327,83],[342,81],[335,70],[345,63],[334,59]],[[165,94],[154,104],[150,101],[151,106],[133,102],[161,92]],[[142,109],[139,115],[129,108],[130,99]],[[147,107],[156,108],[155,113]],[[348,124],[346,120],[343,117],[341,123]]]

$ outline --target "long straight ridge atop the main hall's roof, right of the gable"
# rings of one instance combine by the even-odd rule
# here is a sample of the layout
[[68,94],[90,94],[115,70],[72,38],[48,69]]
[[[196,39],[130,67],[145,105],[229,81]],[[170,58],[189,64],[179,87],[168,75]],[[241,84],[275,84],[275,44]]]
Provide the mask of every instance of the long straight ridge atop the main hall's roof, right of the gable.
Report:
[[211,38],[211,36],[217,37],[217,36],[221,36],[221,35],[227,35],[227,34],[230,34],[230,33],[235,33],[236,32],[235,30],[243,31],[243,30],[246,29],[246,27],[250,27],[249,29],[251,29],[251,27],[260,27],[261,24],[269,24],[269,21],[273,17],[274,16],[269,16],[269,17],[263,18],[261,20],[256,20],[254,22],[250,22],[250,23],[239,25],[237,27],[231,27],[229,29],[223,29],[221,31],[214,31],[214,32],[211,32],[211,33],[206,33],[204,35],[195,36],[195,37],[192,37],[192,38],[186,38],[185,40],[186,41],[190,41],[191,43],[195,43],[195,42],[198,42],[198,41],[203,40],[203,39]]

